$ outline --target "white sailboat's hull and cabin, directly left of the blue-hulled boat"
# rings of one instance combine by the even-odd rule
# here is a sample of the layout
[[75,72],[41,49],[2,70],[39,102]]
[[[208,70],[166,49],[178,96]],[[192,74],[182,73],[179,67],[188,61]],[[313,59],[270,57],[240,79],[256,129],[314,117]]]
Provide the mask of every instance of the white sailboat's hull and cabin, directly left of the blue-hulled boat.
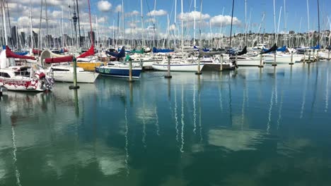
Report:
[[[48,70],[58,82],[74,82],[74,67],[72,66],[51,66]],[[98,77],[98,73],[86,72],[83,68],[76,68],[77,82],[93,83]]]

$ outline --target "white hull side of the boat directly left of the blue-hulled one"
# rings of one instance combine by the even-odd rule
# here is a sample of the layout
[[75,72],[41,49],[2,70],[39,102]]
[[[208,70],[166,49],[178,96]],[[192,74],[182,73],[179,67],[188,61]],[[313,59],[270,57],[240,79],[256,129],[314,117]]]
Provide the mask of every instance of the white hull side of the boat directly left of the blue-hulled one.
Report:
[[[93,83],[98,75],[92,72],[77,72],[77,82]],[[74,73],[71,72],[54,71],[53,77],[57,82],[74,82]]]

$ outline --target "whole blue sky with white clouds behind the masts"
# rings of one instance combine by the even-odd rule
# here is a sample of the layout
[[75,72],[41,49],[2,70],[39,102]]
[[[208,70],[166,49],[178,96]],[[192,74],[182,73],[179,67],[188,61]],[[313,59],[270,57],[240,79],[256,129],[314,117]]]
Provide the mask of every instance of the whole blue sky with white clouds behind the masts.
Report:
[[[43,2],[42,10],[41,1]],[[137,37],[141,35],[142,31],[146,32],[146,35],[152,35],[154,24],[156,26],[155,32],[159,36],[165,36],[167,30],[169,30],[170,34],[173,33],[174,28],[176,28],[176,32],[180,32],[182,18],[184,35],[186,37],[193,37],[193,20],[195,16],[196,37],[199,37],[201,0],[196,0],[196,12],[194,12],[194,0],[183,0],[183,7],[181,7],[181,1],[178,0],[177,11],[175,11],[175,0],[142,0],[144,9],[144,29],[141,28],[141,1],[123,1],[125,14],[124,27],[125,35],[127,36],[132,35],[132,37]],[[273,0],[235,0],[233,11],[233,33],[245,32],[245,1],[247,2],[247,30],[251,30],[252,32],[274,32]],[[74,12],[75,0],[8,0],[8,12],[10,15],[11,26],[17,25],[20,31],[27,33],[30,32],[30,2],[32,2],[33,30],[35,30],[35,32],[39,32],[41,12],[42,33],[45,34],[47,32],[45,20],[45,3],[47,3],[48,32],[53,35],[61,35],[62,33],[71,35],[72,32],[69,19]],[[308,0],[310,16],[309,30],[318,30],[317,2],[318,0]],[[71,4],[70,9],[69,4]],[[90,4],[93,30],[98,30],[99,35],[103,35],[103,37],[112,37],[114,33],[116,34],[117,13],[122,11],[122,0],[91,0]],[[154,10],[155,4],[156,8]],[[327,9],[327,7],[329,8]],[[320,0],[321,30],[331,29],[330,7],[330,0]],[[183,16],[180,14],[181,8],[183,10]],[[201,16],[202,35],[229,35],[231,8],[231,0],[203,0]],[[279,21],[280,10],[281,17]],[[69,14],[69,11],[71,14]],[[177,13],[176,25],[174,25],[175,12]],[[308,31],[307,0],[275,0],[275,12],[276,32],[282,33],[288,32],[289,30],[294,30],[295,32]],[[88,0],[79,0],[79,13],[82,32],[88,32],[90,29]],[[121,14],[122,13],[120,13],[120,15]],[[286,17],[284,15],[286,15]],[[8,15],[6,14],[6,16]],[[170,19],[170,27],[168,27],[168,17]],[[263,21],[262,17],[264,17]],[[98,20],[98,25],[96,24],[96,20]],[[122,20],[120,20],[120,22],[120,24],[122,24]],[[120,30],[122,30],[122,26],[120,26]]]

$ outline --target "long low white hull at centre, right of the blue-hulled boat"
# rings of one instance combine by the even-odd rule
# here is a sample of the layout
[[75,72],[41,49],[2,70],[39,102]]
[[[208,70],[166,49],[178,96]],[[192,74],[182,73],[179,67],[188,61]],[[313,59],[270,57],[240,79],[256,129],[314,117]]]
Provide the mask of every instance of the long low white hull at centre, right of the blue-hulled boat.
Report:
[[[170,64],[170,71],[172,72],[197,72],[197,63],[180,63],[180,64]],[[153,64],[152,66],[155,70],[161,70],[161,71],[167,71],[168,70],[168,64],[162,63],[162,64]],[[204,67],[204,63],[200,64],[200,70]]]

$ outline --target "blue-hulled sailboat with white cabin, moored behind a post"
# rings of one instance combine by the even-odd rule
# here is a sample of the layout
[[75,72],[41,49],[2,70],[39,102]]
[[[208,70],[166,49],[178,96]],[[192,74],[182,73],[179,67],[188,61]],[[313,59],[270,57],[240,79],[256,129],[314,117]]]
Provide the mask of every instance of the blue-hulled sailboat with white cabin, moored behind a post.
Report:
[[[107,63],[107,66],[99,66],[95,71],[101,75],[108,75],[113,77],[129,77],[129,63],[121,63],[118,61]],[[132,65],[132,77],[139,78],[141,68]]]

